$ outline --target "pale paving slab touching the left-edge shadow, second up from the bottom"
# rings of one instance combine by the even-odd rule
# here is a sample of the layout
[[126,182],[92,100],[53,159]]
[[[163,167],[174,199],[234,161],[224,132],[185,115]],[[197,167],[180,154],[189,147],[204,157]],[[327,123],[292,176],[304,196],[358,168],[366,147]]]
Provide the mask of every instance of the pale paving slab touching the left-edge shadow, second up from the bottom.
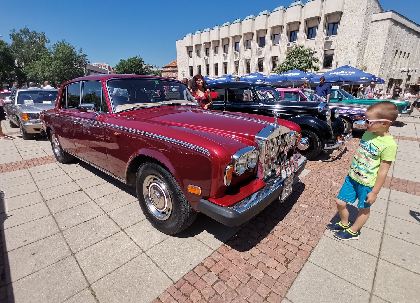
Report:
[[15,282],[70,255],[63,236],[60,233],[52,235],[5,254],[9,266],[6,277]]

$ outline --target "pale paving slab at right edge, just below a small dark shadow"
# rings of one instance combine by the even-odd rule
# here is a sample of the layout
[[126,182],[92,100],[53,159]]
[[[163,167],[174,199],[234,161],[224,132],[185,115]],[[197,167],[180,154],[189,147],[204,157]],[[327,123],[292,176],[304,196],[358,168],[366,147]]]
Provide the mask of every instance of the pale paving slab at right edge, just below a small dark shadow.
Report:
[[391,216],[386,216],[384,232],[396,238],[420,245],[419,224],[408,222]]

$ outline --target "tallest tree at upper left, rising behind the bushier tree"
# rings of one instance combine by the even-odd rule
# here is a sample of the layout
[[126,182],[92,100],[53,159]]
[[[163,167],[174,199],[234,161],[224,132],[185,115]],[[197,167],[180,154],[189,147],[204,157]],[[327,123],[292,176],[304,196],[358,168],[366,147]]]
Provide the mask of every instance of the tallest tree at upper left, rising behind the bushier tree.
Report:
[[16,58],[18,67],[40,60],[48,52],[46,45],[50,40],[45,37],[44,32],[37,33],[24,27],[19,31],[13,29],[10,37],[12,39],[10,50]]

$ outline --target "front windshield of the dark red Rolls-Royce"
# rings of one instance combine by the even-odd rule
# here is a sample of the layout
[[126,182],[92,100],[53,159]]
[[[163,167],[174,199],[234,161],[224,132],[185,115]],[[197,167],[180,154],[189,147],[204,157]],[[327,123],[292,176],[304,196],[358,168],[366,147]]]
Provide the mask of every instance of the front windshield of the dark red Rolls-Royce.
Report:
[[115,112],[136,107],[197,105],[186,85],[179,81],[147,78],[119,78],[107,82]]

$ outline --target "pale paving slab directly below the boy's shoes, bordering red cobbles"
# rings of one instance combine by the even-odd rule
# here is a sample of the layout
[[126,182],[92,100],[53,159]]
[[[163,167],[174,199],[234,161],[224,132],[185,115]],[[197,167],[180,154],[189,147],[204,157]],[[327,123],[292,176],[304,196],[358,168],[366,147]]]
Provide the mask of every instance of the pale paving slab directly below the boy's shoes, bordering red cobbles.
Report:
[[[346,256],[343,256],[343,251],[346,252]],[[355,262],[355,260],[363,261]],[[308,261],[368,292],[372,289],[377,259],[356,248],[346,246],[340,240],[322,237]]]

